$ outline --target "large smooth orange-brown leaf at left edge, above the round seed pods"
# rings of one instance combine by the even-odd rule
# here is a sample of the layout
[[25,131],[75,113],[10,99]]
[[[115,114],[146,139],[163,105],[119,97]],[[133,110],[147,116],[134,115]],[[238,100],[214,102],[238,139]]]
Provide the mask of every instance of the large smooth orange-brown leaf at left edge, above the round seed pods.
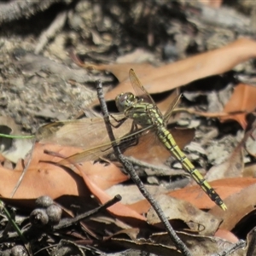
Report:
[[[43,150],[40,154],[43,154]],[[40,195],[49,195],[56,198],[64,194],[86,195],[88,193],[81,177],[68,173],[59,166],[39,163],[38,158],[32,160],[31,164],[31,168],[27,171],[14,198],[31,199]],[[1,166],[0,194],[3,197],[9,198],[22,171],[21,160],[15,170],[8,170]]]

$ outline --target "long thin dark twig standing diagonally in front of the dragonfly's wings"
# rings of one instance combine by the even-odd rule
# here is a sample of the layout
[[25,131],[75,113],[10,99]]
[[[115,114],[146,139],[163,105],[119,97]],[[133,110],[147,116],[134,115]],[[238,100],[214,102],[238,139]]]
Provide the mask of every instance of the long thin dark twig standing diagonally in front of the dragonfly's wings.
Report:
[[183,243],[183,241],[180,240],[180,238],[177,236],[175,231],[172,229],[172,225],[169,223],[164,212],[160,208],[159,203],[157,201],[155,201],[153,196],[148,193],[147,189],[145,189],[143,182],[141,181],[140,177],[138,177],[137,172],[135,172],[131,162],[129,160],[125,159],[124,155],[121,154],[117,143],[114,142],[115,138],[113,136],[112,127],[111,127],[110,120],[109,120],[107,104],[104,100],[104,96],[102,93],[102,82],[100,80],[96,80],[96,90],[97,90],[97,96],[98,96],[98,99],[100,101],[101,108],[102,108],[103,119],[105,121],[105,125],[106,125],[107,131],[108,131],[108,137],[110,138],[110,141],[112,142],[113,152],[114,152],[116,158],[125,167],[125,171],[130,174],[131,179],[137,185],[137,188],[141,191],[143,196],[148,200],[150,205],[154,208],[154,211],[157,213],[161,222],[165,225],[166,231],[169,234],[169,236],[171,237],[171,240],[173,241],[173,243],[175,244],[177,249],[180,250],[183,253],[183,255],[191,256],[191,253],[189,252],[188,247]]

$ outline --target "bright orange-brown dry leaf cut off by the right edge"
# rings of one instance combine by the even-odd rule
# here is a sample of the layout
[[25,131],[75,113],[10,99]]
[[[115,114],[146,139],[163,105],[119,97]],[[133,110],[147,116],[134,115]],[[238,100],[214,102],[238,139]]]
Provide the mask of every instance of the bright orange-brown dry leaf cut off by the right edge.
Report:
[[221,117],[220,120],[234,119],[243,129],[247,127],[246,115],[253,112],[256,108],[256,88],[249,84],[238,84],[234,90],[230,101],[224,107],[224,113],[231,113],[236,111],[245,111],[245,113],[231,114]]

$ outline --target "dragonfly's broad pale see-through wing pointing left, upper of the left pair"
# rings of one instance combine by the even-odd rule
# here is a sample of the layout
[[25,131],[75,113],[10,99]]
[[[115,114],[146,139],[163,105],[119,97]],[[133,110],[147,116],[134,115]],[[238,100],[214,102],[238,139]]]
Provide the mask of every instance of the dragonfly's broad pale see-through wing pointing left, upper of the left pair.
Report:
[[[123,119],[123,114],[115,114],[111,124]],[[113,129],[115,137],[123,137],[131,131],[132,120],[126,120],[119,128]],[[110,143],[102,118],[74,119],[55,122],[40,127],[36,133],[38,142],[55,143],[63,146],[94,148],[99,144]]]

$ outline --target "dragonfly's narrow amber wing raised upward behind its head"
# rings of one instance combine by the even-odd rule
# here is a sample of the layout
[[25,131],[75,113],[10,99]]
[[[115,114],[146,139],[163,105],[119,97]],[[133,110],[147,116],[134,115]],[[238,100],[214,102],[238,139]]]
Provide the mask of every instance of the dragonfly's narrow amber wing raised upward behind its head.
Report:
[[143,84],[138,79],[137,74],[134,72],[132,68],[129,71],[129,79],[133,87],[133,90],[136,92],[136,96],[138,96],[139,98],[143,98],[145,102],[154,104],[154,106],[156,107],[153,98],[149,95],[148,91],[143,87]]

